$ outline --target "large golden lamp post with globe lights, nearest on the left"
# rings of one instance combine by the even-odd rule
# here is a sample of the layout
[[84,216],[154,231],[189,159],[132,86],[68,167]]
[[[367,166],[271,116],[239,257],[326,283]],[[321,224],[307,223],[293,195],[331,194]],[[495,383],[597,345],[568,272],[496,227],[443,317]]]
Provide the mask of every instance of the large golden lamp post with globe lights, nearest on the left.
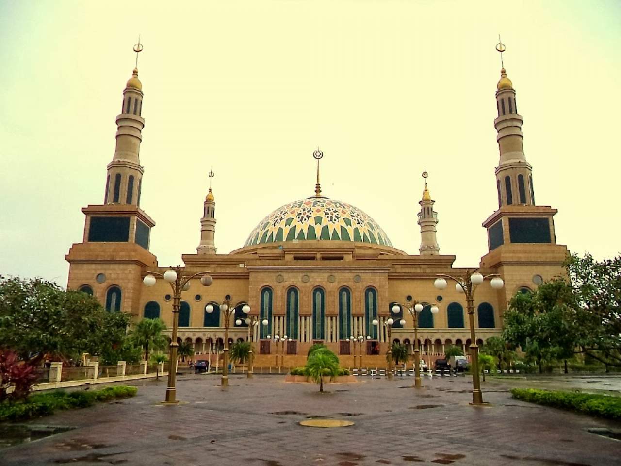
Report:
[[160,272],[147,272],[142,283],[145,286],[155,285],[155,276],[160,276],[168,282],[173,291],[173,334],[170,340],[170,367],[168,368],[168,385],[166,386],[166,398],[164,403],[176,404],[176,381],[177,381],[177,327],[179,324],[179,308],[181,307],[181,292],[188,291],[190,288],[190,280],[196,276],[201,276],[201,285],[210,286],[214,279],[209,272],[197,272],[192,275],[184,275],[181,266],[166,270],[163,274]]

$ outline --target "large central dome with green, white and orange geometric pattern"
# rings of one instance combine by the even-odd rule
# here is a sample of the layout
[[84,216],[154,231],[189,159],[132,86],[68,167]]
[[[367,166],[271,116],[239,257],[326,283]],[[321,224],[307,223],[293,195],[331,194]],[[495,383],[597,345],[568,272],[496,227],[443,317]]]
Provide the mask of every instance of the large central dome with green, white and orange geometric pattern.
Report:
[[324,196],[285,204],[253,229],[244,247],[291,240],[335,240],[392,247],[383,229],[365,212]]

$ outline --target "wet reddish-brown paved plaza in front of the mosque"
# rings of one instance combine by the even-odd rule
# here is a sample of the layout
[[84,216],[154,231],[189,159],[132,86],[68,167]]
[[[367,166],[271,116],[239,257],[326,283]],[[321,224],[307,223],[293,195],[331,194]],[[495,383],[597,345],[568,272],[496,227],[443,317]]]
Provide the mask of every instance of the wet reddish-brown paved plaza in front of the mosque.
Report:
[[[163,406],[166,380],[133,383],[138,395],[64,411],[30,424],[75,426],[0,450],[1,465],[546,465],[621,464],[621,442],[587,431],[621,423],[513,400],[485,383],[486,408],[469,406],[466,377],[360,383],[285,383],[284,376],[183,375],[178,406]],[[509,381],[507,381],[509,383]],[[129,385],[129,384],[128,384]],[[322,429],[312,417],[354,421]]]

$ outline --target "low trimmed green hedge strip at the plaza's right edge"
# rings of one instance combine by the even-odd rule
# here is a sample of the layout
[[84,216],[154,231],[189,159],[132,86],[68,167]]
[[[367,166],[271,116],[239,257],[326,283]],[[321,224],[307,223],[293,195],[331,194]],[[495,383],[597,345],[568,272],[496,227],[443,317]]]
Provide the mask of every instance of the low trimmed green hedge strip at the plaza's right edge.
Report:
[[536,390],[535,388],[513,388],[511,394],[517,400],[530,401],[530,403],[579,411],[600,418],[621,419],[621,398],[616,396]]

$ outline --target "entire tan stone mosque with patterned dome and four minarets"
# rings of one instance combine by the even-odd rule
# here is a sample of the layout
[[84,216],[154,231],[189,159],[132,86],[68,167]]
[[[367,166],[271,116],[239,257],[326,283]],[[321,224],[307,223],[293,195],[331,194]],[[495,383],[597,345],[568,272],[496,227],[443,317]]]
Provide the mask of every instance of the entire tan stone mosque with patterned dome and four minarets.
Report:
[[[170,336],[174,315],[170,286],[163,280],[152,287],[143,285],[147,271],[164,273],[170,267],[159,265],[150,252],[155,221],[140,208],[142,100],[142,82],[134,69],[116,117],[116,150],[107,165],[103,202],[82,209],[83,240],[66,255],[68,288],[90,293],[108,311],[130,313],[135,321],[160,317]],[[469,272],[498,273],[504,287],[494,289],[486,280],[476,290],[474,326],[479,344],[500,334],[502,313],[511,296],[559,275],[568,253],[564,245],[556,244],[556,209],[535,203],[532,166],[522,145],[523,119],[504,68],[496,103],[498,209],[483,221],[488,252]],[[222,349],[225,326],[220,306],[225,295],[231,295],[237,304],[229,322],[229,343],[252,339],[255,367],[303,365],[315,342],[335,351],[343,367],[358,365],[360,359],[364,366],[383,366],[388,327],[393,341],[406,344],[410,352],[413,349],[412,315],[404,308],[392,311],[394,303],[407,300],[423,306],[417,327],[425,360],[442,355],[448,345],[468,347],[464,293],[453,286],[434,287],[437,274],[462,276],[468,270],[453,267],[455,255],[440,254],[438,215],[427,174],[419,201],[420,254],[409,255],[392,245],[386,231],[360,208],[322,194],[319,148],[314,157],[314,194],[268,213],[246,242],[228,254],[216,254],[215,195],[210,183],[196,252],[182,258],[183,273],[207,270],[213,283],[206,288],[194,278],[181,295],[178,340],[194,344],[195,359],[207,359]],[[310,192],[297,196],[304,194]],[[244,303],[261,324],[248,326]],[[209,304],[212,312],[206,311]],[[354,343],[351,337],[360,341]],[[354,354],[361,356],[356,362]]]

